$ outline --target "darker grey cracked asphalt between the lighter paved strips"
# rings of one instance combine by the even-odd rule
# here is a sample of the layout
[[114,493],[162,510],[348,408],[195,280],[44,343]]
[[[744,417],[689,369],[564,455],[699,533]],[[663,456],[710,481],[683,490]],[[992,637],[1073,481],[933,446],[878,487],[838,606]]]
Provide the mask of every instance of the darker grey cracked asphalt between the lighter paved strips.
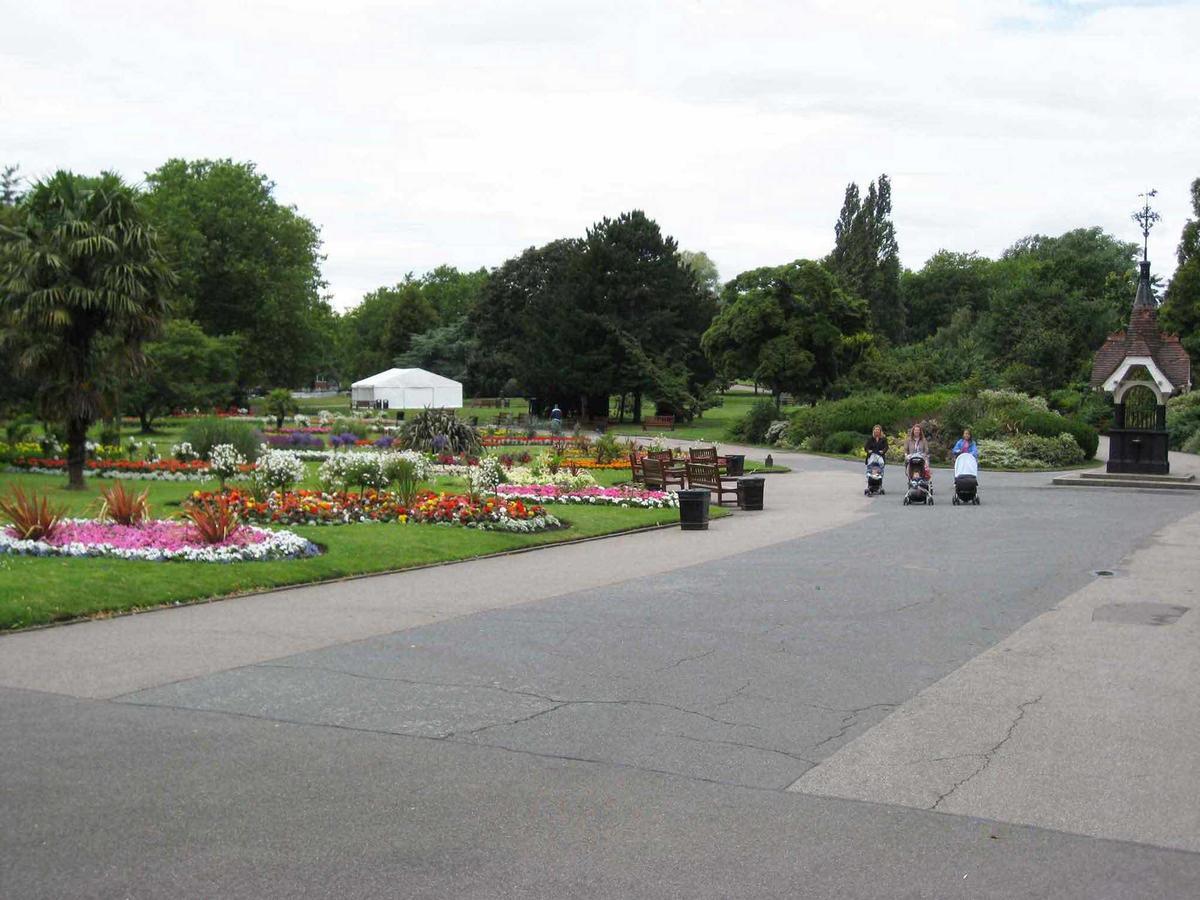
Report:
[[572,592],[544,551],[563,593],[527,605],[113,700],[0,688],[0,896],[1200,896],[1196,853],[787,791],[1200,509],[988,473],[953,508],[946,472],[904,508],[898,476],[684,569]]

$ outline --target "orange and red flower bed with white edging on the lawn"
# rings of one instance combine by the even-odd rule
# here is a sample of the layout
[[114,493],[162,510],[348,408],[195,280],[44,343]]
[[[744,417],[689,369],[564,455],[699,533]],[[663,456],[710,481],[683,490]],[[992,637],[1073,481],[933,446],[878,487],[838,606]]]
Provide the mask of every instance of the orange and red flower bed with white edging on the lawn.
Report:
[[[193,500],[215,494],[197,491]],[[466,494],[422,491],[406,506],[391,491],[274,492],[256,500],[240,491],[227,491],[226,499],[248,522],[264,524],[352,524],[354,522],[400,522],[414,524],[466,526],[484,530],[539,532],[562,526],[542,506],[521,499],[487,497],[473,502]]]

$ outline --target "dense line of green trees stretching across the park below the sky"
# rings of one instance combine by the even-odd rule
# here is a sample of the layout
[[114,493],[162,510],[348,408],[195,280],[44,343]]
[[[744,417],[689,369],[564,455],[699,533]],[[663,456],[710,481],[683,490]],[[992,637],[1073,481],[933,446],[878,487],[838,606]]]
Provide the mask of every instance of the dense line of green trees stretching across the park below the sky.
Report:
[[[712,259],[634,210],[491,271],[407,275],[337,313],[319,229],[252,163],[170,160],[144,188],[114,178],[59,173],[28,186],[0,169],[0,415],[37,401],[76,432],[116,412],[149,428],[178,407],[317,378],[347,385],[390,366],[592,415],[617,397],[635,419],[648,403],[695,415],[736,379],[806,401],[967,380],[1082,392],[1134,289],[1135,246],[1098,228],[1024,238],[996,259],[943,250],[905,270],[881,175],[865,192],[847,186],[821,260],[722,284]],[[1192,205],[1162,320],[1200,362],[1200,179]],[[120,221],[104,218],[118,209]],[[68,245],[64,229],[76,227],[92,229],[90,242]],[[114,277],[119,290],[104,282]],[[116,305],[107,314],[85,296]],[[73,349],[55,361],[53,347]]]

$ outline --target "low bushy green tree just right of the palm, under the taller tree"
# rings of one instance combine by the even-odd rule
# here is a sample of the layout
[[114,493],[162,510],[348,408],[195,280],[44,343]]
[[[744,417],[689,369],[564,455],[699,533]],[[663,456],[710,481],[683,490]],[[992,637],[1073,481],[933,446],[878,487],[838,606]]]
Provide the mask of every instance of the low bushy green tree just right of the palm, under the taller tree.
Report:
[[236,337],[210,337],[194,322],[169,319],[162,336],[145,344],[145,367],[121,390],[121,406],[149,433],[157,416],[174,409],[229,402],[238,377],[238,343]]

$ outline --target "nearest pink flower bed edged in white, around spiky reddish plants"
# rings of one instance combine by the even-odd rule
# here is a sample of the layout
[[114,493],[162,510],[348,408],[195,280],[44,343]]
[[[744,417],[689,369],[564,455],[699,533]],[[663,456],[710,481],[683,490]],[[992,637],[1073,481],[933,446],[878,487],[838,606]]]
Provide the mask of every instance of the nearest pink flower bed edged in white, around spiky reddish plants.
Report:
[[67,518],[44,540],[19,540],[0,529],[0,553],[35,557],[118,557],[149,562],[239,563],[316,556],[317,545],[292,532],[242,526],[220,544],[205,544],[184,522],[150,520],[136,526]]

